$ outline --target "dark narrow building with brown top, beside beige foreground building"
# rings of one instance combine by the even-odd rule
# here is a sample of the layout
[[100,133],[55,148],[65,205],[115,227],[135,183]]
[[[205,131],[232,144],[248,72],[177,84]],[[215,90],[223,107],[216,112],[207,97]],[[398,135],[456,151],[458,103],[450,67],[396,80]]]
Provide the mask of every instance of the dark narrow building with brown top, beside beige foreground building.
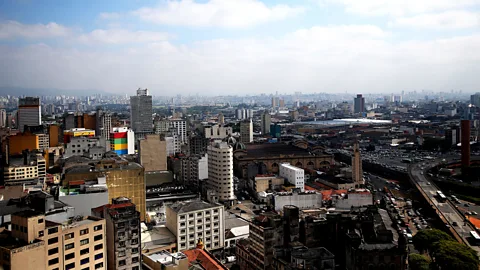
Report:
[[115,198],[92,209],[92,214],[106,220],[107,269],[140,270],[140,212],[135,204],[125,197]]

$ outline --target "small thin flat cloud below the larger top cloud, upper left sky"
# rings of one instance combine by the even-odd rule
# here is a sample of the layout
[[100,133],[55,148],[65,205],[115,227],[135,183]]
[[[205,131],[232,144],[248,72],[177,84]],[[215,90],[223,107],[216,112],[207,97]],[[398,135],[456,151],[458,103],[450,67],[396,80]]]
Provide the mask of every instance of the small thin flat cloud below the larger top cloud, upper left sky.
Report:
[[85,44],[134,44],[167,40],[169,34],[154,31],[129,31],[125,29],[96,29],[78,37]]

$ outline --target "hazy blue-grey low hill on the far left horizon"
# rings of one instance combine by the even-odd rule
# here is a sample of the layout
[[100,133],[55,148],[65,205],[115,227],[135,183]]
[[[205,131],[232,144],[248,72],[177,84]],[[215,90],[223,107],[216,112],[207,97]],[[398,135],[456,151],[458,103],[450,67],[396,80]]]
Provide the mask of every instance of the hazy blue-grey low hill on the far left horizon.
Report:
[[42,88],[23,88],[23,87],[0,87],[0,96],[91,96],[96,94],[111,95],[102,90],[65,90],[65,89],[42,89]]

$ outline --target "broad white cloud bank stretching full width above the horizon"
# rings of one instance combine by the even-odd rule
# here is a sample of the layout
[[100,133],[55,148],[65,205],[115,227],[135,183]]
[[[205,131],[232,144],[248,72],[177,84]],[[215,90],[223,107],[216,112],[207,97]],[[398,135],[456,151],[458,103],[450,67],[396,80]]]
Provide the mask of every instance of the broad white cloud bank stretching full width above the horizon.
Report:
[[0,84],[117,93],[142,85],[155,95],[475,91],[479,47],[480,35],[393,44],[388,32],[368,25],[192,45],[158,41],[107,52],[3,46],[0,63],[6,72],[0,72]]

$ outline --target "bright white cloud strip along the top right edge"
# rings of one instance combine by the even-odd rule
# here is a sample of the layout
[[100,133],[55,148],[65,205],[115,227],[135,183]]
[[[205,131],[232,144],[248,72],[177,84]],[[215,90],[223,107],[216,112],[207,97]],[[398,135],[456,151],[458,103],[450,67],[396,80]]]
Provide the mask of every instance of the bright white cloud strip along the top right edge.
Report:
[[340,4],[347,12],[361,15],[407,16],[475,7],[480,0],[320,0],[320,3]]

